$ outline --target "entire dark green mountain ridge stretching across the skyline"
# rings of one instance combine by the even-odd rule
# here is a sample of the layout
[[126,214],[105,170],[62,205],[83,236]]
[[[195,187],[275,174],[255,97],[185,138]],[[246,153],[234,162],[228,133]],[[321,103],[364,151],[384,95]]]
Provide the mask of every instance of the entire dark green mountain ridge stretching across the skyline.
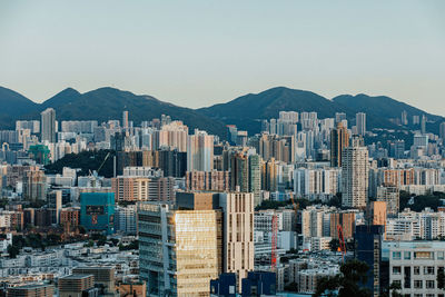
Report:
[[[9,113],[0,111],[1,127],[12,128],[17,119],[39,119],[39,113],[48,107],[56,109],[59,120],[107,121],[120,119],[121,112],[128,110],[130,119],[138,125],[142,120],[159,118],[164,113],[172,119],[182,120],[190,129],[199,128],[222,137],[226,133],[225,125],[237,125],[250,135],[259,132],[261,120],[278,118],[281,110],[316,111],[319,118],[332,118],[335,112],[345,112],[352,125],[355,123],[355,113],[363,111],[367,115],[369,129],[400,128],[395,121],[400,118],[403,110],[407,112],[409,121],[412,116],[426,115],[431,121],[428,127],[432,127],[433,131],[438,129],[437,122],[444,120],[444,117],[428,113],[387,96],[358,93],[339,95],[328,99],[309,90],[287,87],[246,93],[228,102],[198,109],[179,107],[149,95],[135,95],[112,87],[83,93],[73,88],[66,88],[42,103],[36,103],[13,90],[0,87],[0,103],[6,107],[3,110],[13,109],[17,106],[16,101],[19,102],[20,109]],[[413,128],[413,125],[408,125],[407,128]]]

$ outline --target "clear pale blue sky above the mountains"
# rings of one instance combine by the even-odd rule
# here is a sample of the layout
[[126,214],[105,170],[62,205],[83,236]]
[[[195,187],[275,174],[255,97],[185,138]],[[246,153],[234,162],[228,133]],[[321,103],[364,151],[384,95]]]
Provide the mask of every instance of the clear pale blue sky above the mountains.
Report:
[[445,1],[0,1],[0,86],[186,107],[285,86],[445,116]]

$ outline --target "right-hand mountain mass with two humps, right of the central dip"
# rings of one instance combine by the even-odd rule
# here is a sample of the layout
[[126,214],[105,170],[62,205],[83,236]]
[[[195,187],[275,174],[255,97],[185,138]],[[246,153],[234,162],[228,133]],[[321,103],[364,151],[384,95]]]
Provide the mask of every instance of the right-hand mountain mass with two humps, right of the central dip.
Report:
[[[403,111],[407,112],[409,122],[412,122],[412,116],[426,115],[428,120],[432,121],[427,125],[428,130],[435,132],[438,129],[438,122],[444,120],[443,117],[429,115],[386,96],[342,95],[329,100],[310,91],[284,87],[273,88],[259,93],[249,93],[227,103],[198,109],[202,115],[226,123],[234,123],[240,129],[249,131],[249,133],[259,131],[261,119],[278,118],[281,110],[316,111],[319,118],[332,118],[335,112],[346,112],[350,125],[355,125],[355,113],[366,112],[368,129],[404,129],[404,127],[390,120],[400,119]],[[418,127],[412,125],[407,128],[418,129]]]

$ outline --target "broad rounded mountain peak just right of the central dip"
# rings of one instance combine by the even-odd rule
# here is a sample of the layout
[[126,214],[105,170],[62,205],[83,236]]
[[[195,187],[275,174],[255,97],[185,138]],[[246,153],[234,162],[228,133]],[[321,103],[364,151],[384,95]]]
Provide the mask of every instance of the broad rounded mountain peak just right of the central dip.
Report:
[[315,92],[285,87],[248,93],[227,103],[198,109],[202,115],[234,123],[240,129],[248,130],[249,133],[259,131],[261,119],[277,118],[281,110],[317,111],[319,118],[333,117],[336,111],[352,112],[347,107],[336,105]]

